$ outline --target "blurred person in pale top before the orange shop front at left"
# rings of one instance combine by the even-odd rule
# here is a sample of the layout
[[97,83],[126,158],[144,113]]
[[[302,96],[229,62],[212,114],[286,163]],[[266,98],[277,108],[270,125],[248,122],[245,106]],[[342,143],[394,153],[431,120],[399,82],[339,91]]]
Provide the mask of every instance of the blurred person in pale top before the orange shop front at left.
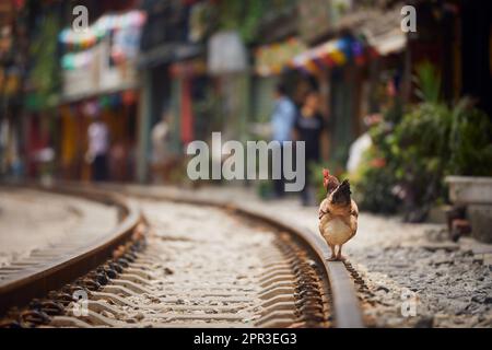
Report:
[[94,116],[87,129],[89,152],[87,158],[92,166],[92,179],[104,182],[108,179],[108,150],[109,130],[99,115]]

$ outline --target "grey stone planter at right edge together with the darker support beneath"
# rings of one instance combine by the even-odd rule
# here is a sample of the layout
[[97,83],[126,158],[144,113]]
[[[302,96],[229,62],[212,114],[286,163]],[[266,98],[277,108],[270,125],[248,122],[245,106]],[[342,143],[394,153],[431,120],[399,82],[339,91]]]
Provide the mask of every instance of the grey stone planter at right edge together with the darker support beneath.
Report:
[[492,243],[492,177],[448,176],[449,198],[466,206],[471,223],[471,235]]

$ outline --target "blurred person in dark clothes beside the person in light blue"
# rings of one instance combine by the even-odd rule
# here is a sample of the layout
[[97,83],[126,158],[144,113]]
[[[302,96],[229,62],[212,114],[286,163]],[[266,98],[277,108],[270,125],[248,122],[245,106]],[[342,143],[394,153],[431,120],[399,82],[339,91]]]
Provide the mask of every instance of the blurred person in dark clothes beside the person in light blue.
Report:
[[301,192],[303,206],[314,202],[311,189],[311,167],[320,161],[320,139],[325,128],[323,115],[319,113],[319,94],[311,91],[304,98],[297,117],[295,119],[295,132],[298,141],[305,142],[305,179],[306,185]]

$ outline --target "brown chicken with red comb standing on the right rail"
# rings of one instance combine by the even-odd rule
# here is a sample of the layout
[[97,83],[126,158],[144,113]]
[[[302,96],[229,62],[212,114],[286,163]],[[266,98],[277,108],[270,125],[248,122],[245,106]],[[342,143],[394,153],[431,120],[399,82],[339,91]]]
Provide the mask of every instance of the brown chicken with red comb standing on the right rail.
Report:
[[[319,232],[331,249],[329,260],[344,260],[341,248],[358,231],[359,208],[350,197],[348,179],[340,184],[328,170],[323,170],[323,176],[327,195],[319,205]],[[336,246],[339,247],[338,253]]]

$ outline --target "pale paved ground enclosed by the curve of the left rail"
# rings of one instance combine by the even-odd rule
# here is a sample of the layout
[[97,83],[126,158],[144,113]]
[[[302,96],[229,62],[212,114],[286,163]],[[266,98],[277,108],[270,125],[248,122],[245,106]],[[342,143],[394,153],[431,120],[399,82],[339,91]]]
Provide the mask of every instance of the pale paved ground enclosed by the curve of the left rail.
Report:
[[91,240],[115,228],[115,209],[93,201],[31,189],[0,187],[0,267],[33,249],[74,235]]

